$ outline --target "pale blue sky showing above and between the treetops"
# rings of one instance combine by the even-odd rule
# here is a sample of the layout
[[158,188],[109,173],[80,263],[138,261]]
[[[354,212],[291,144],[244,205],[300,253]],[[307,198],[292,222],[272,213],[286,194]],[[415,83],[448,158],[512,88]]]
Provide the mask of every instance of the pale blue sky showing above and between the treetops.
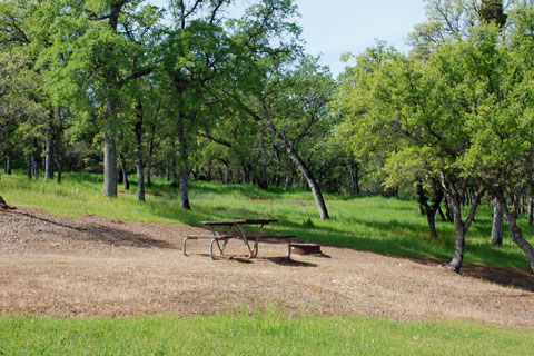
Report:
[[[151,0],[162,6],[166,0]],[[243,13],[253,0],[237,0],[235,14]],[[425,19],[425,0],[296,0],[301,17],[306,52],[322,56],[322,63],[334,76],[345,68],[339,58],[345,52],[362,53],[383,40],[407,52],[406,37]],[[231,11],[234,12],[234,11]],[[350,63],[349,63],[350,65]]]

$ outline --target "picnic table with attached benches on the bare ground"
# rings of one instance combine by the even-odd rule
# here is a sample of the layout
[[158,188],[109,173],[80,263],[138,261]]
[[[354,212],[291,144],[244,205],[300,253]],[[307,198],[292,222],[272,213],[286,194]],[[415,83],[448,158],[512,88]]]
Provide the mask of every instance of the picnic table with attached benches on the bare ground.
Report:
[[[296,238],[293,235],[263,235],[264,226],[278,222],[276,219],[237,219],[237,220],[222,220],[222,221],[199,221],[199,224],[206,225],[211,230],[210,236],[186,236],[182,244],[184,256],[187,256],[186,253],[186,243],[189,239],[199,239],[199,238],[210,238],[209,243],[209,257],[214,258],[214,245],[217,246],[220,256],[224,255],[226,245],[228,240],[237,238],[243,241],[247,247],[248,256],[247,258],[254,258],[258,255],[258,243],[260,239],[275,239],[275,240],[287,240],[288,253],[287,257],[291,256],[291,240]],[[259,226],[257,233],[247,233],[244,229],[244,226]],[[222,241],[222,245],[220,244]],[[250,241],[254,241],[254,246],[250,246]]]

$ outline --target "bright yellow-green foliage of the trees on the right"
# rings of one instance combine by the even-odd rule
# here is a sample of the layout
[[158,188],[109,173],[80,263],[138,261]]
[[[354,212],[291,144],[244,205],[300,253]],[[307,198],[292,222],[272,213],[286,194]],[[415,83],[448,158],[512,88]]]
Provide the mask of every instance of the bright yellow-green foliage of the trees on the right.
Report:
[[510,47],[494,26],[468,32],[425,61],[378,46],[345,75],[334,103],[345,112],[339,132],[358,157],[384,157],[387,186],[443,172],[493,179],[530,159],[532,39],[516,34]]

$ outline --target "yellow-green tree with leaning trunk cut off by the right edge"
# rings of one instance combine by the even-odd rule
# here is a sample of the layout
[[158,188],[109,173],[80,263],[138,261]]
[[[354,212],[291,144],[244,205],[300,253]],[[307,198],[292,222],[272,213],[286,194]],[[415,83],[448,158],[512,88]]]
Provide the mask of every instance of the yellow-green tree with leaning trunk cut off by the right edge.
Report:
[[469,120],[476,135],[465,165],[478,174],[478,179],[495,197],[512,241],[525,253],[534,271],[534,250],[517,224],[520,191],[533,174],[528,168],[534,157],[534,101],[526,90],[534,82],[533,20],[533,8],[522,11],[511,42],[498,41],[496,30],[491,27],[474,32],[476,42],[466,56],[477,65],[477,72],[469,73],[477,75],[479,82],[477,111]]

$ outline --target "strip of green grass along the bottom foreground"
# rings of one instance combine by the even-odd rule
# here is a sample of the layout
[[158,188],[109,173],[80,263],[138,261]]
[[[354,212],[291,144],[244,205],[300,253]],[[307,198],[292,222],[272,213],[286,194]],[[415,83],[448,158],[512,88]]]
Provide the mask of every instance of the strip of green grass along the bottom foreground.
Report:
[[0,317],[0,355],[532,355],[532,330],[459,322],[248,313],[191,318]]

